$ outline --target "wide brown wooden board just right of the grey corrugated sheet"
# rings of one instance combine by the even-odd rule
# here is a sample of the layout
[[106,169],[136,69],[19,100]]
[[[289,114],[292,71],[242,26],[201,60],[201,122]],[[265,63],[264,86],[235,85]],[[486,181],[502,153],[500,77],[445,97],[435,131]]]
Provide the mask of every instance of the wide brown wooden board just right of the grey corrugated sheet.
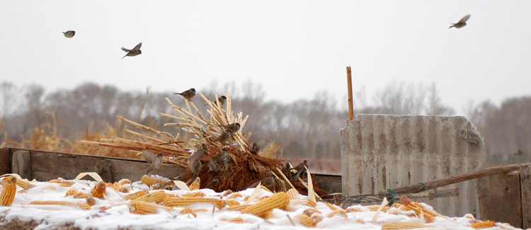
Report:
[[476,179],[481,219],[522,227],[520,174],[509,172]]

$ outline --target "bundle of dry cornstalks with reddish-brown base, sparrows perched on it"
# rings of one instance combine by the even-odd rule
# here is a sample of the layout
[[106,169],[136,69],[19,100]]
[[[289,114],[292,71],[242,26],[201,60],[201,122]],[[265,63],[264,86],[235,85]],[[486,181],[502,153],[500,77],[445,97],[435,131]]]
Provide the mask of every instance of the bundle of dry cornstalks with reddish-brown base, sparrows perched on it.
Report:
[[[227,92],[228,94],[228,92]],[[253,154],[249,151],[249,138],[244,135],[242,130],[249,116],[243,115],[243,112],[234,114],[232,111],[232,101],[226,97],[226,109],[223,109],[223,103],[219,102],[216,95],[215,102],[210,101],[200,92],[198,95],[210,107],[207,114],[202,114],[194,102],[185,99],[186,108],[176,106],[166,97],[176,115],[159,113],[161,116],[174,119],[174,123],[165,123],[164,126],[178,126],[183,131],[192,135],[192,138],[183,138],[181,135],[172,135],[171,133],[158,131],[154,128],[144,126],[134,121],[127,120],[118,116],[123,122],[130,123],[132,126],[141,128],[147,132],[137,132],[126,129],[132,138],[102,138],[100,141],[81,141],[81,143],[91,145],[101,145],[125,150],[141,152],[148,150],[155,155],[164,155],[166,162],[177,164],[181,167],[188,168],[184,175],[176,175],[183,181],[190,181],[194,174],[198,174],[201,181],[201,188],[212,188],[217,191],[221,190],[242,190],[253,186],[269,176],[274,176],[273,186],[275,190],[287,190],[285,181],[280,175],[276,175],[275,168],[281,168],[284,159],[273,159]],[[227,132],[227,126],[239,124],[239,128],[234,132]],[[220,136],[229,134],[228,140],[219,140]],[[227,150],[227,157],[221,161],[212,160],[222,149]],[[200,156],[198,161],[202,164],[200,170],[194,170],[189,167],[190,155],[197,152],[205,153]],[[190,161],[188,160],[190,158]],[[194,164],[195,162],[191,163]],[[207,167],[210,164],[211,167]],[[215,165],[212,165],[215,164]],[[214,168],[214,170],[212,169]],[[194,173],[195,171],[195,173]],[[278,173],[277,173],[278,174]]]

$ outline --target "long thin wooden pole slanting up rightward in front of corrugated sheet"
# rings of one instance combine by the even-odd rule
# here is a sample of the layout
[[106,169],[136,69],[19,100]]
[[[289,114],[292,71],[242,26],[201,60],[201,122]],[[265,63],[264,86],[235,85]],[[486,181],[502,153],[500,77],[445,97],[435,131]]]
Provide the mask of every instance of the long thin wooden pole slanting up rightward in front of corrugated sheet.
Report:
[[[440,179],[436,179],[436,180],[433,180],[433,181],[426,181],[426,182],[424,182],[424,185],[426,185],[426,186],[424,186],[421,183],[416,183],[416,184],[413,184],[411,186],[392,188],[391,190],[392,190],[393,193],[399,193],[399,194],[418,193],[418,192],[421,192],[423,190],[430,190],[430,189],[434,189],[434,188],[439,188],[439,187],[442,187],[442,186],[447,186],[447,185],[452,184],[452,183],[459,183],[459,182],[462,182],[462,181],[468,181],[468,180],[472,180],[474,178],[479,178],[479,177],[482,177],[482,176],[491,176],[491,175],[494,175],[494,174],[505,174],[506,172],[509,172],[509,171],[520,170],[520,167],[523,167],[524,165],[528,165],[529,166],[530,164],[510,164],[510,165],[504,165],[504,166],[501,166],[501,167],[492,167],[492,168],[489,168],[489,169],[482,169],[482,170],[479,170],[479,171],[474,171],[474,172],[471,172],[471,173],[468,173],[468,174],[460,174],[460,175],[456,175],[456,176],[447,176],[445,178],[440,178]],[[379,193],[389,193],[389,191],[388,190],[382,190]]]

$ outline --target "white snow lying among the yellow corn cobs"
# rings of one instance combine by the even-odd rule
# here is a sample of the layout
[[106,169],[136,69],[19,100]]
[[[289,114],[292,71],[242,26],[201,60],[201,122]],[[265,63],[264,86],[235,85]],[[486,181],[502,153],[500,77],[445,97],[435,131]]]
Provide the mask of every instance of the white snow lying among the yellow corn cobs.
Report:
[[[59,186],[58,183],[48,183],[40,181],[31,181],[34,188],[23,190],[17,186],[17,193],[13,205],[8,207],[0,207],[0,220],[2,217],[6,221],[13,219],[20,219],[23,221],[30,221],[34,219],[36,222],[42,222],[36,229],[53,229],[67,223],[74,223],[74,226],[80,229],[308,229],[299,224],[297,215],[303,214],[304,210],[309,209],[307,197],[298,195],[300,200],[292,200],[288,207],[290,212],[285,210],[273,210],[273,218],[262,219],[253,214],[242,214],[239,211],[229,211],[227,207],[222,210],[215,209],[212,204],[195,204],[191,205],[190,209],[204,209],[207,212],[196,212],[197,217],[192,214],[179,214],[184,207],[173,207],[171,211],[159,208],[156,214],[133,214],[127,207],[127,201],[123,198],[129,193],[120,193],[108,187],[105,195],[109,200],[96,198],[96,205],[91,207],[91,210],[83,210],[79,207],[67,207],[60,205],[30,205],[32,201],[39,200],[64,200],[85,202],[85,199],[74,199],[72,195],[65,197],[65,193],[70,188]],[[77,190],[90,193],[93,188],[94,181],[79,180],[72,186]],[[139,190],[149,189],[148,186],[135,182],[132,184],[125,184],[125,187],[130,188],[130,193],[135,193]],[[241,197],[234,198],[243,204],[244,198],[253,193],[253,188],[241,191]],[[221,198],[222,193],[216,193],[210,189],[193,190],[186,192],[185,190],[166,190],[166,193],[173,195],[183,195],[185,193],[195,192],[205,193],[207,198]],[[266,190],[261,190],[259,198],[270,196]],[[226,198],[224,198],[226,199]],[[256,201],[258,202],[258,201]],[[101,207],[108,207],[106,210],[101,210]],[[376,212],[371,212],[367,207],[362,205],[354,205],[362,212],[347,212],[346,217],[341,214],[333,217],[328,215],[333,212],[329,206],[324,202],[317,202],[315,207],[321,214],[314,214],[321,217],[322,221],[316,224],[318,229],[382,229],[382,224],[390,222],[419,222],[420,219],[414,216],[414,212],[401,211],[392,207],[388,212],[381,212],[378,221],[372,223],[372,217]],[[227,222],[228,219],[240,217],[244,220],[243,224]],[[430,229],[472,229],[469,222],[474,219],[471,214],[464,217],[436,217],[435,222],[428,223],[428,226],[433,226]],[[295,226],[294,226],[295,224]],[[0,222],[1,229],[1,222]],[[497,224],[489,229],[515,229],[504,224]]]

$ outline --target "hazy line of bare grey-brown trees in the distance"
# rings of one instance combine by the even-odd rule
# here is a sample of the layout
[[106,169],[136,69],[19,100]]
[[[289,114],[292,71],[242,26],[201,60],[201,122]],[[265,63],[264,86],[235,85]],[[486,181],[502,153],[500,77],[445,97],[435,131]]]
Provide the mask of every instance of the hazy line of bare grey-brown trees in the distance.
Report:
[[[181,91],[186,89],[180,89]],[[224,95],[232,98],[233,110],[249,114],[244,132],[251,141],[282,145],[278,157],[341,159],[339,130],[348,119],[348,106],[341,107],[329,92],[316,92],[312,98],[291,103],[266,101],[261,85],[251,80],[227,83],[212,82],[204,90],[209,99]],[[164,97],[181,107],[183,98],[173,92],[123,92],[111,85],[84,83],[73,90],[45,93],[40,85],[18,87],[0,83],[1,140],[20,142],[35,128],[52,122],[55,114],[57,135],[76,140],[86,132],[103,132],[103,124],[114,124],[124,116],[160,131],[182,131],[164,123],[174,122],[159,116],[173,114]],[[207,107],[196,96],[195,104]],[[435,84],[390,83],[368,99],[364,90],[355,92],[355,114],[452,115],[455,109],[442,103]],[[468,103],[464,113],[485,138],[488,164],[531,161],[531,97],[506,99],[501,106],[486,101]]]

